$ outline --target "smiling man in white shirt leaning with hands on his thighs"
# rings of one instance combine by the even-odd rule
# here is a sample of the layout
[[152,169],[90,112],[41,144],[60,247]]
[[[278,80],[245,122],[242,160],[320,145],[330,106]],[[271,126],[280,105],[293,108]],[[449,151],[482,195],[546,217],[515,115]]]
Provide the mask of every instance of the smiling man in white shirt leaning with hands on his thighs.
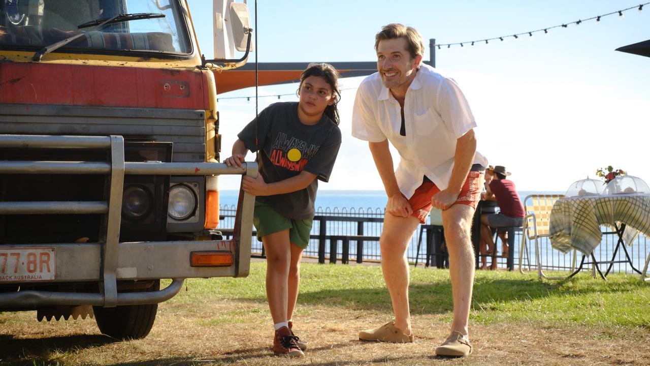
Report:
[[[422,64],[413,28],[389,24],[375,36],[377,70],[357,90],[352,135],[369,141],[388,196],[380,240],[382,271],[395,321],[361,331],[365,341],[412,342],[406,248],[432,206],[443,210],[454,300],[451,335],[435,352],[467,356],[474,282],[470,229],[487,160],[476,152],[474,117],[453,79]],[[388,141],[401,156],[393,171]]]

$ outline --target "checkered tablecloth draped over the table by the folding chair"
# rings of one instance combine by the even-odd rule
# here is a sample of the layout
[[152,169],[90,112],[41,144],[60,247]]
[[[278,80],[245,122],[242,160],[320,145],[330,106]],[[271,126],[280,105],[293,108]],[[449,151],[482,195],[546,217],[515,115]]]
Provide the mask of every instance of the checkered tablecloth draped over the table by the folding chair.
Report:
[[625,223],[625,244],[640,232],[650,238],[650,195],[621,194],[558,199],[551,210],[551,246],[590,255],[601,244],[601,225]]

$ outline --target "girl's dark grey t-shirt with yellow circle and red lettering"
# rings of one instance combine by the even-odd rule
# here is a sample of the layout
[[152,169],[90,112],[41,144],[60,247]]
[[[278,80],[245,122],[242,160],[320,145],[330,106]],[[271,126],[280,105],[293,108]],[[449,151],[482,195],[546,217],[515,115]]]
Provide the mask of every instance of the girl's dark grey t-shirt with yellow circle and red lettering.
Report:
[[258,152],[259,173],[267,183],[301,171],[317,176],[304,190],[256,198],[287,218],[313,218],[318,180],[330,179],[341,147],[339,126],[326,115],[316,124],[303,124],[298,119],[298,102],[281,102],[266,107],[237,137],[248,150]]

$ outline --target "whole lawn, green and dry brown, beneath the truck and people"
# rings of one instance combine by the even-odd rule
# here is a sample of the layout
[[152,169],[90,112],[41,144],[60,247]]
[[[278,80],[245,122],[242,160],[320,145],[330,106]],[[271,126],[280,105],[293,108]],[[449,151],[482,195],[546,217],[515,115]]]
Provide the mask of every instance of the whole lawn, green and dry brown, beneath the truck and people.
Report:
[[[145,339],[100,335],[94,320],[36,322],[35,312],[0,313],[0,364],[10,365],[645,365],[650,359],[650,283],[638,276],[476,273],[470,332],[474,354],[438,359],[452,298],[447,270],[411,268],[417,342],[361,343],[359,330],[391,318],[380,266],[302,264],[296,332],[307,357],[270,356],[265,262],[246,279],[188,279],[159,305]],[[163,284],[164,285],[164,284]]]

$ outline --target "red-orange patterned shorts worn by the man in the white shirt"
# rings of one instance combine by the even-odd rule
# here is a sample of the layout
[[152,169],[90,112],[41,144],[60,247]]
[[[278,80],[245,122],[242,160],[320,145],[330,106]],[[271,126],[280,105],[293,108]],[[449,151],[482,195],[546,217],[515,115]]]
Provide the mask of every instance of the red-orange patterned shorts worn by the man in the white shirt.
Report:
[[[460,190],[458,199],[456,203],[466,204],[476,208],[476,204],[481,199],[481,182],[483,182],[483,172],[482,171],[471,171],[467,175],[465,184]],[[431,197],[434,197],[435,193],[438,193],[440,190],[432,182],[423,182],[421,186],[415,190],[413,196],[408,200],[413,208],[413,216],[420,220],[421,223],[426,223],[426,216],[428,216],[431,211]],[[456,204],[454,203],[454,204]]]

